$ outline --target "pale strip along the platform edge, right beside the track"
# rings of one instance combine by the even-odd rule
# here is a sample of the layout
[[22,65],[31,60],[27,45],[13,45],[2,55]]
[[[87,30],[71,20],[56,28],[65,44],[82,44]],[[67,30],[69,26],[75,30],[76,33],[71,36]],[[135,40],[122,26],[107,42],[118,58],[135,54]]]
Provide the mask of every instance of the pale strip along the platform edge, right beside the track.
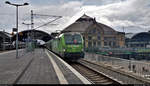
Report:
[[[49,51],[50,52],[50,51]],[[52,52],[50,52],[51,54],[53,54]],[[55,55],[55,54],[53,54]],[[56,56],[56,55],[55,55]],[[88,81],[85,77],[83,77],[79,72],[77,72],[75,69],[73,69],[69,64],[67,64],[66,62],[64,62],[61,58],[59,58],[58,56],[56,56],[61,62],[63,62],[63,64],[65,64],[84,84],[92,84],[90,81]]]

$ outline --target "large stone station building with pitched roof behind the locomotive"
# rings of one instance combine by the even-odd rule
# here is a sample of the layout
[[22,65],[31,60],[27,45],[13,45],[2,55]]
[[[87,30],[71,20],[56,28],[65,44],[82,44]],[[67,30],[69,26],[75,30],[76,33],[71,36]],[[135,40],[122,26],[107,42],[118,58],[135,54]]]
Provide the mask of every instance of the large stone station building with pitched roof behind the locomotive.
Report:
[[62,33],[65,32],[80,32],[85,40],[85,48],[125,46],[125,33],[117,32],[107,25],[98,23],[95,18],[85,14],[62,31]]

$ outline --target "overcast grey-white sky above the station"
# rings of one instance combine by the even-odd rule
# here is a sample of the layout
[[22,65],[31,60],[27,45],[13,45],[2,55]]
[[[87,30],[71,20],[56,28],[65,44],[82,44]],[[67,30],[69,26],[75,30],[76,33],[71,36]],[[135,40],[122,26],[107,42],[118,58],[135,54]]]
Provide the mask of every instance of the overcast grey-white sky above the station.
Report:
[[[16,9],[0,0],[0,30],[11,32],[16,27]],[[62,30],[84,13],[95,17],[116,31],[144,32],[150,30],[150,0],[9,0],[11,3],[28,2],[19,7],[19,31],[26,30],[22,22],[30,23],[30,11],[35,14],[63,16],[61,19],[38,28],[51,33]],[[34,27],[54,20],[49,16],[34,16]],[[56,25],[55,25],[56,24]]]

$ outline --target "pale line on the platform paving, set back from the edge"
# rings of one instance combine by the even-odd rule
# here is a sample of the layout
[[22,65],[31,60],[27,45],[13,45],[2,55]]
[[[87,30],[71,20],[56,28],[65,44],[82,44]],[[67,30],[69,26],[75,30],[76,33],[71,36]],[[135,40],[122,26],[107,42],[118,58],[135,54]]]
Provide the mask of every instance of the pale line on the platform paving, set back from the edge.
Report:
[[45,51],[46,54],[48,55],[51,63],[53,64],[54,70],[57,74],[57,77],[59,79],[60,84],[68,84],[67,80],[65,79],[63,73],[61,72],[61,70],[59,69],[59,67],[57,66],[56,62],[53,60],[53,58],[48,54],[47,51]]

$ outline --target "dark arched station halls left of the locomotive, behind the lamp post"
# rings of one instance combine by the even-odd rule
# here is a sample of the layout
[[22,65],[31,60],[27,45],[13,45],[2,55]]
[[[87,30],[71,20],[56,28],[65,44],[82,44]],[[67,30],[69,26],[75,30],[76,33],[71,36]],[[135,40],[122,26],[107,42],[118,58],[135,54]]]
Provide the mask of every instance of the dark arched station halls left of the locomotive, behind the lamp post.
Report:
[[[27,41],[47,42],[51,35],[41,30],[24,30],[18,33],[18,48],[24,48]],[[34,40],[33,40],[34,39]],[[10,50],[16,47],[16,34],[0,31],[0,50]]]

